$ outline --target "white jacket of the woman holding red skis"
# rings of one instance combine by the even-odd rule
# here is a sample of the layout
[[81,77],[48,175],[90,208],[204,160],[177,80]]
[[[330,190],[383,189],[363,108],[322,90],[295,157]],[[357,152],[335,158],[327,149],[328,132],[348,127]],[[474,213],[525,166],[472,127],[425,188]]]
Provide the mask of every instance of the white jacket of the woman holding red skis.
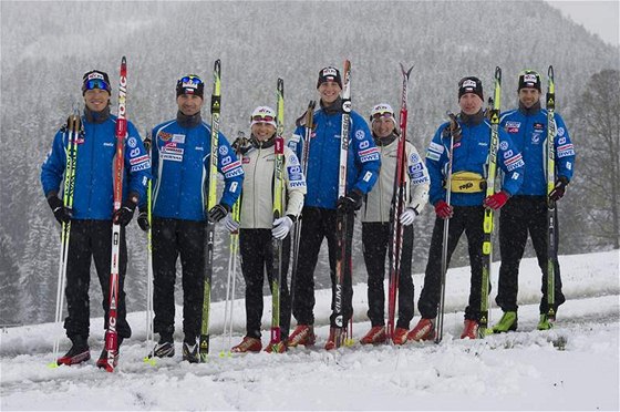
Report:
[[[396,174],[396,152],[399,148],[399,140],[383,146],[378,145],[381,154],[381,171],[379,179],[368,194],[361,210],[362,222],[390,222],[390,208],[392,207],[392,196],[394,194],[394,177]],[[422,212],[424,205],[428,202],[428,188],[431,178],[428,171],[424,164],[424,159],[410,142],[405,142],[406,152],[406,173],[407,182],[406,207]]]

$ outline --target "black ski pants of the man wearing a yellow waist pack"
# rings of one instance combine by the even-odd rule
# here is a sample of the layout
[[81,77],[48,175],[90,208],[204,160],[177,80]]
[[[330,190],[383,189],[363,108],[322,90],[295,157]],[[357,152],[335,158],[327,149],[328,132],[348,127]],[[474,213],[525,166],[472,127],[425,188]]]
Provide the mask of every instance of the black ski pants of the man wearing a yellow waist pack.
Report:
[[[467,250],[472,277],[469,281],[469,302],[465,308],[465,319],[478,320],[480,316],[482,276],[483,276],[483,206],[454,206],[454,215],[450,219],[447,237],[447,265],[463,231],[467,236]],[[428,262],[424,274],[424,288],[420,295],[417,308],[422,318],[433,319],[437,316],[441,297],[442,248],[444,219],[435,218]],[[490,279],[489,279],[490,280]],[[446,279],[446,282],[448,280]],[[490,282],[490,281],[489,281]],[[489,287],[490,290],[490,287]]]

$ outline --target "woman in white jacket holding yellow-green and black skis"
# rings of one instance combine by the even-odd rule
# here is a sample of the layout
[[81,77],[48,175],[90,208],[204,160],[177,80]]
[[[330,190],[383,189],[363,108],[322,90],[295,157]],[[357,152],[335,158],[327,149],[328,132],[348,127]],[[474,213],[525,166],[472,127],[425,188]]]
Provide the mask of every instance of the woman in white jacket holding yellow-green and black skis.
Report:
[[[249,144],[241,148],[240,157],[246,177],[241,190],[240,223],[226,219],[230,231],[239,230],[241,271],[246,281],[246,336],[231,349],[232,352],[259,352],[260,320],[262,318],[262,285],[265,271],[271,288],[273,253],[272,238],[282,239],[282,277],[280,281],[280,332],[286,342],[290,328],[290,295],[287,272],[290,256],[289,231],[303,207],[306,178],[296,154],[285,146],[285,199],[281,218],[273,219],[275,137],[276,112],[268,106],[255,109],[251,115]],[[230,216],[230,215],[228,215]],[[282,352],[286,344],[268,346],[266,351]]]

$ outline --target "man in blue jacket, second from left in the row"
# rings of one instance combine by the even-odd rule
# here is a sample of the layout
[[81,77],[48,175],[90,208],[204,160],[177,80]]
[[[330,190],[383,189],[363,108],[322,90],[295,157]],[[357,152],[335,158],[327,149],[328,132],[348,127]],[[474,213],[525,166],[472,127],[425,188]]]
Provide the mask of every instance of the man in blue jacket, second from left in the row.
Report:
[[[241,193],[244,169],[230,144],[218,134],[217,168],[224,175],[219,204],[205,209],[211,147],[211,127],[203,122],[205,83],[194,74],[176,84],[175,120],[153,128],[153,331],[159,341],[153,353],[173,357],[174,285],[176,261],[183,269],[183,359],[198,362],[198,337],[205,275],[205,223],[221,220]],[[138,223],[148,229],[141,214]]]

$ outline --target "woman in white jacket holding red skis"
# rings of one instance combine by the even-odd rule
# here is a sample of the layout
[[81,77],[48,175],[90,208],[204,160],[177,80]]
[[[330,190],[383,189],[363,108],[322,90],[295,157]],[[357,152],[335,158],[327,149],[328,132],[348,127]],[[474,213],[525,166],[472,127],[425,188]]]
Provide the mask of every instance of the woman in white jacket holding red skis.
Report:
[[[379,179],[368,194],[362,208],[362,245],[368,278],[368,316],[371,330],[362,338],[362,344],[382,343],[388,339],[385,333],[385,257],[392,241],[390,230],[390,209],[394,195],[396,171],[396,153],[399,131],[394,120],[394,111],[389,104],[378,104],[372,109],[371,128],[374,142],[381,153],[381,171]],[[428,202],[430,177],[424,159],[410,142],[405,142],[407,181],[406,203],[404,212],[399,216],[403,224],[403,241],[401,251],[401,272],[399,277],[399,320],[392,340],[395,344],[406,342],[409,327],[413,318],[413,222]]]

